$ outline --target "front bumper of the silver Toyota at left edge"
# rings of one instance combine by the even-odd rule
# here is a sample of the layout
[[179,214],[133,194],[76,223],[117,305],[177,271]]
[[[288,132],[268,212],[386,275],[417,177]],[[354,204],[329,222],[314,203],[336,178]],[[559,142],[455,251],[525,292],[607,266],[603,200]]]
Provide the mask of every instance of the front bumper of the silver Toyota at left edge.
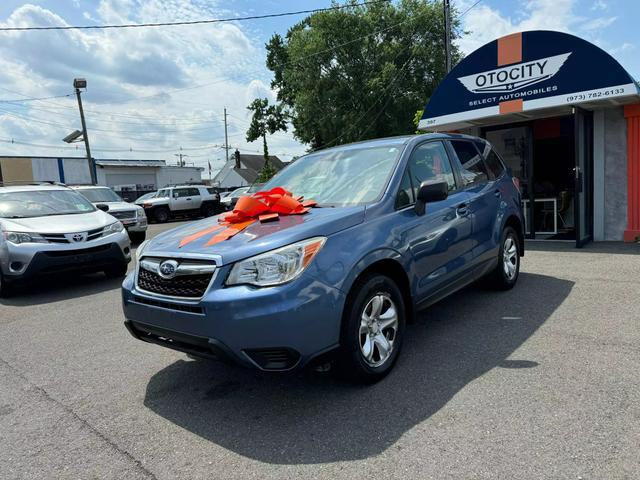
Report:
[[21,244],[5,242],[0,269],[6,281],[70,271],[96,272],[131,261],[129,236],[123,230],[79,244]]

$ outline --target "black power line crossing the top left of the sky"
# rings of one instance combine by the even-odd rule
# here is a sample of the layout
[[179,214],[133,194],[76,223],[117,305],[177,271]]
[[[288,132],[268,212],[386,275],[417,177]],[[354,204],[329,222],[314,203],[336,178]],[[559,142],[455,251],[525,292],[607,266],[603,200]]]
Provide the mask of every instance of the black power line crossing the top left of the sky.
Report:
[[326,8],[315,8],[312,10],[298,10],[295,12],[280,12],[280,13],[270,13],[266,15],[251,15],[246,17],[233,17],[233,18],[216,18],[216,19],[208,19],[208,20],[190,20],[190,21],[182,21],[182,22],[125,23],[121,25],[81,25],[81,26],[51,25],[46,27],[2,27],[0,28],[0,32],[24,32],[24,31],[30,31],[30,30],[105,30],[105,29],[114,29],[114,28],[174,27],[174,26],[184,26],[184,25],[203,25],[203,24],[212,24],[212,23],[240,22],[245,20],[260,20],[264,18],[288,17],[292,15],[302,15],[307,13],[328,12],[331,10],[341,10],[345,8],[362,7],[366,5],[378,4],[378,3],[387,2],[387,1],[388,0],[372,0],[372,1],[360,2],[360,3],[348,3],[345,5],[335,5],[335,6],[326,7]]

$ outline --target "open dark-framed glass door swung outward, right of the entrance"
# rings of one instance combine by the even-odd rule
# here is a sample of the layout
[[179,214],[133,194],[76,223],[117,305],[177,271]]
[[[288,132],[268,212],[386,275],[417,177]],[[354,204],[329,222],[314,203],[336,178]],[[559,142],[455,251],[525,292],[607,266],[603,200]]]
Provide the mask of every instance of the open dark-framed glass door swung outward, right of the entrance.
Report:
[[576,247],[593,239],[593,114],[574,107]]

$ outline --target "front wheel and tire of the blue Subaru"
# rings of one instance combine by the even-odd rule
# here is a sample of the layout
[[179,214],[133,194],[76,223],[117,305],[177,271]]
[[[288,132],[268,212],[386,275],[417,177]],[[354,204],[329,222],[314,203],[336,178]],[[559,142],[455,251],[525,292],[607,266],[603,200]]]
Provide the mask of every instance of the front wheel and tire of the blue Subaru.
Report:
[[345,305],[338,371],[357,383],[383,379],[398,359],[405,325],[402,293],[393,280],[379,274],[358,280]]

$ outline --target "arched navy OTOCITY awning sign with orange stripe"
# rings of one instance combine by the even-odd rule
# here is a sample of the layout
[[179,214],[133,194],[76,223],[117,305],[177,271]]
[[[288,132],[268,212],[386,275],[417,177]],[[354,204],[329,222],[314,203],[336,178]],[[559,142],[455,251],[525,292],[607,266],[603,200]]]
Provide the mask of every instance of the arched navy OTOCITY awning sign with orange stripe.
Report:
[[455,130],[484,118],[638,94],[625,69],[592,43],[561,32],[515,33],[465,57],[429,99],[419,128]]

